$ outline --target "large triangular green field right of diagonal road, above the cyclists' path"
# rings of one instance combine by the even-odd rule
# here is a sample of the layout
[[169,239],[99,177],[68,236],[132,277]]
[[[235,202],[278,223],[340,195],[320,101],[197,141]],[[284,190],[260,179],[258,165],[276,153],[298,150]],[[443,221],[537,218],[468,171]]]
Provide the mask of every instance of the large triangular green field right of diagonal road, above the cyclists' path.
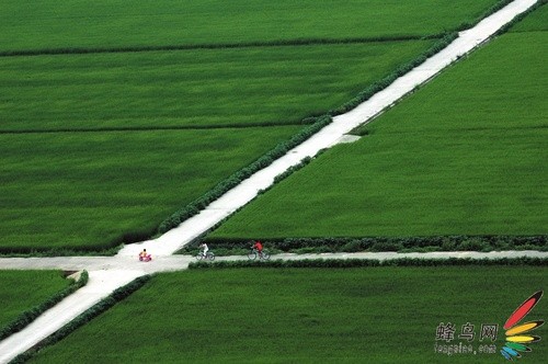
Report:
[[494,41],[212,236],[547,234],[547,41]]

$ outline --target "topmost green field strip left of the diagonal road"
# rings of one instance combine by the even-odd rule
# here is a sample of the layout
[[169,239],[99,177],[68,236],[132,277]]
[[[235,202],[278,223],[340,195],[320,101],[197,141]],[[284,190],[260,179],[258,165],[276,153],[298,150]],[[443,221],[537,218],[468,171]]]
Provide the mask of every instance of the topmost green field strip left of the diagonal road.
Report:
[[0,52],[424,36],[496,0],[3,0]]

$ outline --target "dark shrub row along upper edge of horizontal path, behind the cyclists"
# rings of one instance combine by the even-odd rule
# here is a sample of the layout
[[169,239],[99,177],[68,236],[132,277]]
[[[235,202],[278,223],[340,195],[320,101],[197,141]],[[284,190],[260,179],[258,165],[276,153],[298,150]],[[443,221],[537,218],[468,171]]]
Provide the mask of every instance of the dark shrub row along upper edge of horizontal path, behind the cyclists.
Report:
[[[358,252],[358,251],[548,251],[548,236],[434,236],[434,237],[364,237],[364,238],[285,238],[260,239],[265,248],[283,252]],[[210,249],[249,249],[249,239],[207,237]],[[197,247],[194,241],[187,249]]]

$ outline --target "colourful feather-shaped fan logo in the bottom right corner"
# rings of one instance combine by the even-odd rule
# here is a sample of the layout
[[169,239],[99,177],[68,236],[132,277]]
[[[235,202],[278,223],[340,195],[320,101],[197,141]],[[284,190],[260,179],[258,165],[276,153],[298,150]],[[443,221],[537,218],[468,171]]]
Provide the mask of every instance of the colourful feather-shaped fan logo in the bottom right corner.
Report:
[[529,344],[540,340],[540,337],[532,335],[529,331],[543,326],[545,321],[536,320],[522,323],[516,326],[543,297],[543,291],[535,293],[533,296],[527,298],[516,310],[510,315],[506,323],[504,323],[504,330],[506,331],[506,344],[502,348],[501,354],[509,361],[522,357],[520,352],[532,351],[525,344]]

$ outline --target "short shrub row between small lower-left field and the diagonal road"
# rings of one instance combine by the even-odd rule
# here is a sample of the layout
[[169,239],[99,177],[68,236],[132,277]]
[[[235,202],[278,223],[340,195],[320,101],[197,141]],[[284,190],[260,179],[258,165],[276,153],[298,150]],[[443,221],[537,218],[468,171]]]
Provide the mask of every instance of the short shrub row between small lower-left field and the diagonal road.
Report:
[[54,296],[49,297],[46,302],[43,302],[42,304],[21,314],[12,322],[8,323],[7,326],[0,329],[0,340],[3,340],[9,335],[14,334],[15,332],[23,330],[38,316],[41,316],[49,308],[60,303],[65,297],[70,296],[77,289],[88,284],[88,278],[89,278],[88,272],[83,271],[82,274],[80,275],[80,280],[73,281],[68,287],[64,288]]

